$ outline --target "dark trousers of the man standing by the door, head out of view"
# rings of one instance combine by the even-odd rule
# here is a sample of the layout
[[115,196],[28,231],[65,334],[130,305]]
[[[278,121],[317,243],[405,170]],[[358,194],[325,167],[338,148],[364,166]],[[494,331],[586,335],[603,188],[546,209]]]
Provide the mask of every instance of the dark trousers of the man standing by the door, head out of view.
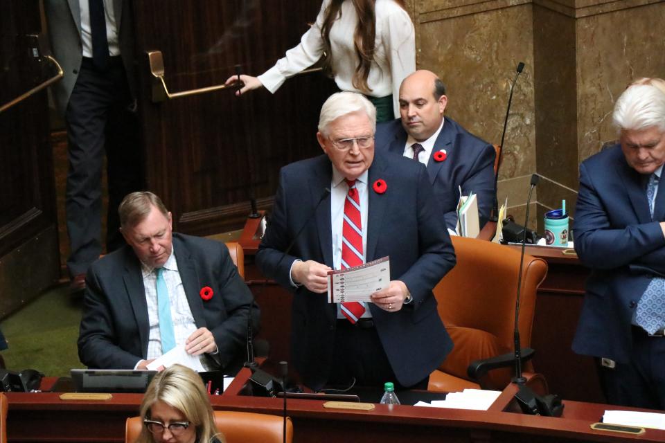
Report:
[[124,244],[118,205],[143,185],[139,121],[121,57],[112,57],[104,71],[83,59],[67,111],[69,173],[67,232],[70,275],[85,273],[102,253],[102,168],[107,159],[109,208],[107,251]]

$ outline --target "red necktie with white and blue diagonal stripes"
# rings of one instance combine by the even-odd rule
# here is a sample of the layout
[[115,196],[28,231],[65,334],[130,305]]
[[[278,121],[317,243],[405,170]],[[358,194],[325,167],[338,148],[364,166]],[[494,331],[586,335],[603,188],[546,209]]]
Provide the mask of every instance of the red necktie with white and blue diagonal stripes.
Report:
[[[360,218],[360,196],[355,188],[355,180],[345,180],[348,194],[344,201],[344,221],[342,223],[342,269],[363,264],[362,221]],[[346,302],[340,306],[342,314],[351,323],[357,322],[365,307],[360,302]]]

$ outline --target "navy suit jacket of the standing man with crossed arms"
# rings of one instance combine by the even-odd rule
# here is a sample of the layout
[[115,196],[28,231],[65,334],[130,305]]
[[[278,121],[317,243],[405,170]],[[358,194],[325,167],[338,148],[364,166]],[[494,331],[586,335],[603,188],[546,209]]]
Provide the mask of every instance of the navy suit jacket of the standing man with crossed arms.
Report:
[[580,165],[575,250],[592,268],[573,350],[626,363],[631,320],[654,275],[665,274],[665,180],[653,221],[646,199],[648,176],[630,168],[614,145]]

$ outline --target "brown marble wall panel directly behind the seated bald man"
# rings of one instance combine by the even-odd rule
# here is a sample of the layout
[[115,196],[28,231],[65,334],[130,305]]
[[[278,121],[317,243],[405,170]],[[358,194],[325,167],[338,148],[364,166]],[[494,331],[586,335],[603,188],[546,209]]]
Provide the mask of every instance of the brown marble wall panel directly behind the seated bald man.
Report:
[[515,88],[508,119],[499,178],[529,174],[535,171],[531,5],[432,19],[436,6],[450,4],[415,3],[418,68],[430,69],[443,79],[448,116],[498,144],[515,68],[524,62],[526,68]]

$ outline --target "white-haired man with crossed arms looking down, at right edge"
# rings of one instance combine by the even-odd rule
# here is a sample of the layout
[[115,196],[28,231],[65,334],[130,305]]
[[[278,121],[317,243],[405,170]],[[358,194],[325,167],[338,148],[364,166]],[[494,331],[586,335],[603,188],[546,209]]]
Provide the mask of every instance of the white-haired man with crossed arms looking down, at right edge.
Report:
[[[665,408],[665,94],[628,87],[620,143],[580,165],[575,249],[592,268],[573,341],[610,404]],[[663,188],[663,189],[660,189]]]

